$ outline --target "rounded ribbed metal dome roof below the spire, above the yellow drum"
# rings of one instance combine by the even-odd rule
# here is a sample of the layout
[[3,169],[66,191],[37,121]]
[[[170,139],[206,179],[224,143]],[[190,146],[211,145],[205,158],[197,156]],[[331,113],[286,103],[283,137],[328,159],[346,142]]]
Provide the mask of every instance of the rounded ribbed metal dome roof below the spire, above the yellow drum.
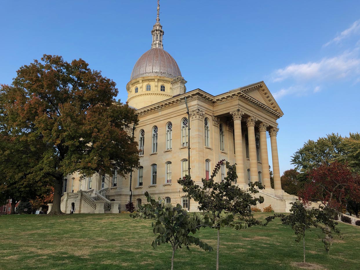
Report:
[[161,48],[151,48],[136,61],[130,81],[145,76],[176,78],[181,76],[180,68],[174,58]]

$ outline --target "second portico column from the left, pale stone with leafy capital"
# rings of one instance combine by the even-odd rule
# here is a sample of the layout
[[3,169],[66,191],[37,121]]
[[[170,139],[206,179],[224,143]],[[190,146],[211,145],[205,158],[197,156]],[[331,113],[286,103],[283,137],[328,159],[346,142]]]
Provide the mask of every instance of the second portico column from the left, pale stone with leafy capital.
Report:
[[246,125],[248,127],[248,138],[249,138],[250,181],[253,183],[258,180],[256,142],[255,142],[256,120],[257,119],[253,116],[246,118]]

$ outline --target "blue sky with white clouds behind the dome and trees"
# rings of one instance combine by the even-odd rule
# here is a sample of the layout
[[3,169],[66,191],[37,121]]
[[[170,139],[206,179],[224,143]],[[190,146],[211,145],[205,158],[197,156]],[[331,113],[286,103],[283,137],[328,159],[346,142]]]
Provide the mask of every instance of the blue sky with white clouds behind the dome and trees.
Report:
[[[360,127],[360,1],[160,1],[164,49],[188,90],[217,95],[265,81],[278,120],[280,172],[309,139]],[[42,54],[82,58],[125,86],[150,48],[156,0],[2,1],[0,83]],[[270,142],[269,142],[270,143]],[[270,158],[271,159],[271,158]]]

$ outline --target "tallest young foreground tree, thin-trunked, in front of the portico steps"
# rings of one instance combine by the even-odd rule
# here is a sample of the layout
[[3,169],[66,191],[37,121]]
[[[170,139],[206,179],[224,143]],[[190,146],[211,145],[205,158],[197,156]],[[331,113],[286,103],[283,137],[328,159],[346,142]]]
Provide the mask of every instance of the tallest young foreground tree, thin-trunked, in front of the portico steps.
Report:
[[195,202],[199,203],[199,210],[209,212],[212,228],[217,229],[217,270],[219,269],[220,229],[230,226],[239,230],[253,225],[261,225],[262,223],[253,217],[251,206],[264,202],[262,196],[259,198],[252,196],[258,193],[258,189],[264,188],[260,183],[250,183],[247,190],[234,185],[238,176],[235,165],[230,165],[229,162],[226,162],[228,172],[224,182],[216,182],[215,176],[223,163],[224,160],[217,163],[210,179],[202,179],[202,186],[196,185],[188,175],[177,180],[183,186],[183,191],[189,195],[189,199],[193,198]]

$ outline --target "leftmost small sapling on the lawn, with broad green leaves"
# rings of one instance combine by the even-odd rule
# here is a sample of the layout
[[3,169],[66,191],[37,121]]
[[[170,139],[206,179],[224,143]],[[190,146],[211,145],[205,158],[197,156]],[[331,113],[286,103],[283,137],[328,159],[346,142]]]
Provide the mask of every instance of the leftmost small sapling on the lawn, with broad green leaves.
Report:
[[152,247],[156,248],[164,243],[172,246],[171,270],[174,269],[174,256],[178,248],[186,247],[189,249],[191,244],[201,247],[205,251],[211,251],[212,247],[202,242],[199,238],[190,235],[195,234],[205,224],[212,224],[209,215],[194,213],[190,216],[180,204],[173,207],[170,203],[160,198],[153,199],[148,192],[145,192],[147,204],[139,205],[138,212],[130,214],[131,217],[140,219],[151,219],[153,233],[158,236],[152,242]]

